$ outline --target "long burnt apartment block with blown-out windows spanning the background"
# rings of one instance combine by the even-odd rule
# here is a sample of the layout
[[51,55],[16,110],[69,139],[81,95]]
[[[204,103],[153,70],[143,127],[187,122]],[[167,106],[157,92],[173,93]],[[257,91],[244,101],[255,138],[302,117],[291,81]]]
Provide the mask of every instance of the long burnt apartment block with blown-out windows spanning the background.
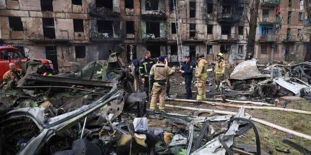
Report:
[[[297,53],[296,44],[299,51],[307,50],[301,40],[293,42],[294,36],[299,38],[297,31],[305,30],[306,15],[296,1],[292,0],[290,8],[288,0],[282,0],[279,35],[275,33],[275,22],[267,24],[261,14],[268,8],[269,17],[267,13],[264,17],[272,19],[280,4],[260,5],[256,58],[290,60],[292,53]],[[248,31],[244,10],[249,3],[249,0],[0,0],[0,45],[20,47],[29,58],[49,59],[59,72],[107,59],[110,50],[120,53],[125,62],[143,58],[145,50],[150,50],[154,58],[168,55],[172,63],[181,61],[185,55],[194,61],[199,52],[206,53],[208,61],[216,60],[216,55],[223,52],[230,63],[242,62]],[[289,10],[291,24],[287,21]],[[281,40],[265,39],[271,38],[270,30],[266,30],[271,25],[271,34],[284,35]],[[286,40],[288,29],[290,39]],[[272,52],[276,47],[278,53]],[[287,57],[285,51],[289,53]]]

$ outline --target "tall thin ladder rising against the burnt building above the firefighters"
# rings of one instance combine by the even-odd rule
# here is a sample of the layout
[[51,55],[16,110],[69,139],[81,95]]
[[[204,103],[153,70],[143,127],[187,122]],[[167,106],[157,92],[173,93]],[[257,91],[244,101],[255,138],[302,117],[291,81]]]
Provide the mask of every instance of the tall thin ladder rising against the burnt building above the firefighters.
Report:
[[183,47],[182,47],[180,28],[179,28],[179,16],[178,16],[177,1],[178,0],[173,0],[173,10],[174,10],[175,28],[176,28],[176,32],[177,32],[177,52],[178,52],[177,55],[178,55],[179,66],[181,66],[182,57],[179,58],[179,56],[182,56]]

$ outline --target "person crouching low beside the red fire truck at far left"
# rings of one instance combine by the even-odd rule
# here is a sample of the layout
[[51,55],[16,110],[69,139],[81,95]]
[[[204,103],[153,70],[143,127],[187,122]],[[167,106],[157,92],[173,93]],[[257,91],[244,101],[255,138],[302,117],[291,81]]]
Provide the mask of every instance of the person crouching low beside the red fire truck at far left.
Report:
[[9,64],[9,69],[10,70],[3,75],[3,85],[9,80],[17,82],[20,78],[22,78],[22,70],[16,68],[16,64],[14,62]]

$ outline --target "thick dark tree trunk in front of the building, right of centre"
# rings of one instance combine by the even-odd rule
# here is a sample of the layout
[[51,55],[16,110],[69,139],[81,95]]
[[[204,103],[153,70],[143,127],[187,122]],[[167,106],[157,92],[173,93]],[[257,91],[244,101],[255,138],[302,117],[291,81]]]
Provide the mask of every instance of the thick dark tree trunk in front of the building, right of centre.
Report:
[[251,0],[252,5],[250,7],[250,20],[249,20],[249,33],[246,47],[246,56],[245,60],[248,58],[248,54],[252,53],[255,56],[255,38],[256,38],[256,29],[257,29],[257,19],[259,11],[259,0]]

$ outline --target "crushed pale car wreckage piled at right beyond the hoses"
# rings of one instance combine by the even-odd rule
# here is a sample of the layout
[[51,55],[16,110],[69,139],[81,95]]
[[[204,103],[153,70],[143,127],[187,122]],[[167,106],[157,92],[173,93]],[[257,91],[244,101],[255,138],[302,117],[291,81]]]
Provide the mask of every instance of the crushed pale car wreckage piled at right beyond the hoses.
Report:
[[258,60],[249,60],[235,67],[230,78],[222,82],[221,92],[270,103],[280,96],[304,97],[311,92],[310,70],[311,62],[266,66]]

